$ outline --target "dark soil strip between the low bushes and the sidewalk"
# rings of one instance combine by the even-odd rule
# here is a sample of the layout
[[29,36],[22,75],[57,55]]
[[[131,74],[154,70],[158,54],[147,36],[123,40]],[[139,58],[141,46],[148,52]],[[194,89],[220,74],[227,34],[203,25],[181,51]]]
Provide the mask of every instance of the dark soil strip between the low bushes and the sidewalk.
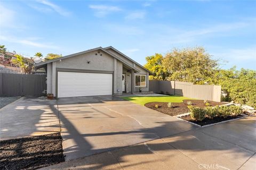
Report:
[[180,117],[180,118],[182,118],[183,120],[186,120],[186,121],[193,122],[193,123],[196,123],[196,124],[198,124],[198,125],[204,126],[204,125],[207,125],[207,124],[213,124],[213,123],[218,123],[218,122],[233,120],[233,119],[239,118],[239,117],[244,117],[244,116],[242,116],[242,115],[237,115],[237,116],[214,117],[214,118],[206,117],[203,121],[197,121],[197,120],[195,120],[194,118],[190,117],[190,115],[182,116],[182,117]]

